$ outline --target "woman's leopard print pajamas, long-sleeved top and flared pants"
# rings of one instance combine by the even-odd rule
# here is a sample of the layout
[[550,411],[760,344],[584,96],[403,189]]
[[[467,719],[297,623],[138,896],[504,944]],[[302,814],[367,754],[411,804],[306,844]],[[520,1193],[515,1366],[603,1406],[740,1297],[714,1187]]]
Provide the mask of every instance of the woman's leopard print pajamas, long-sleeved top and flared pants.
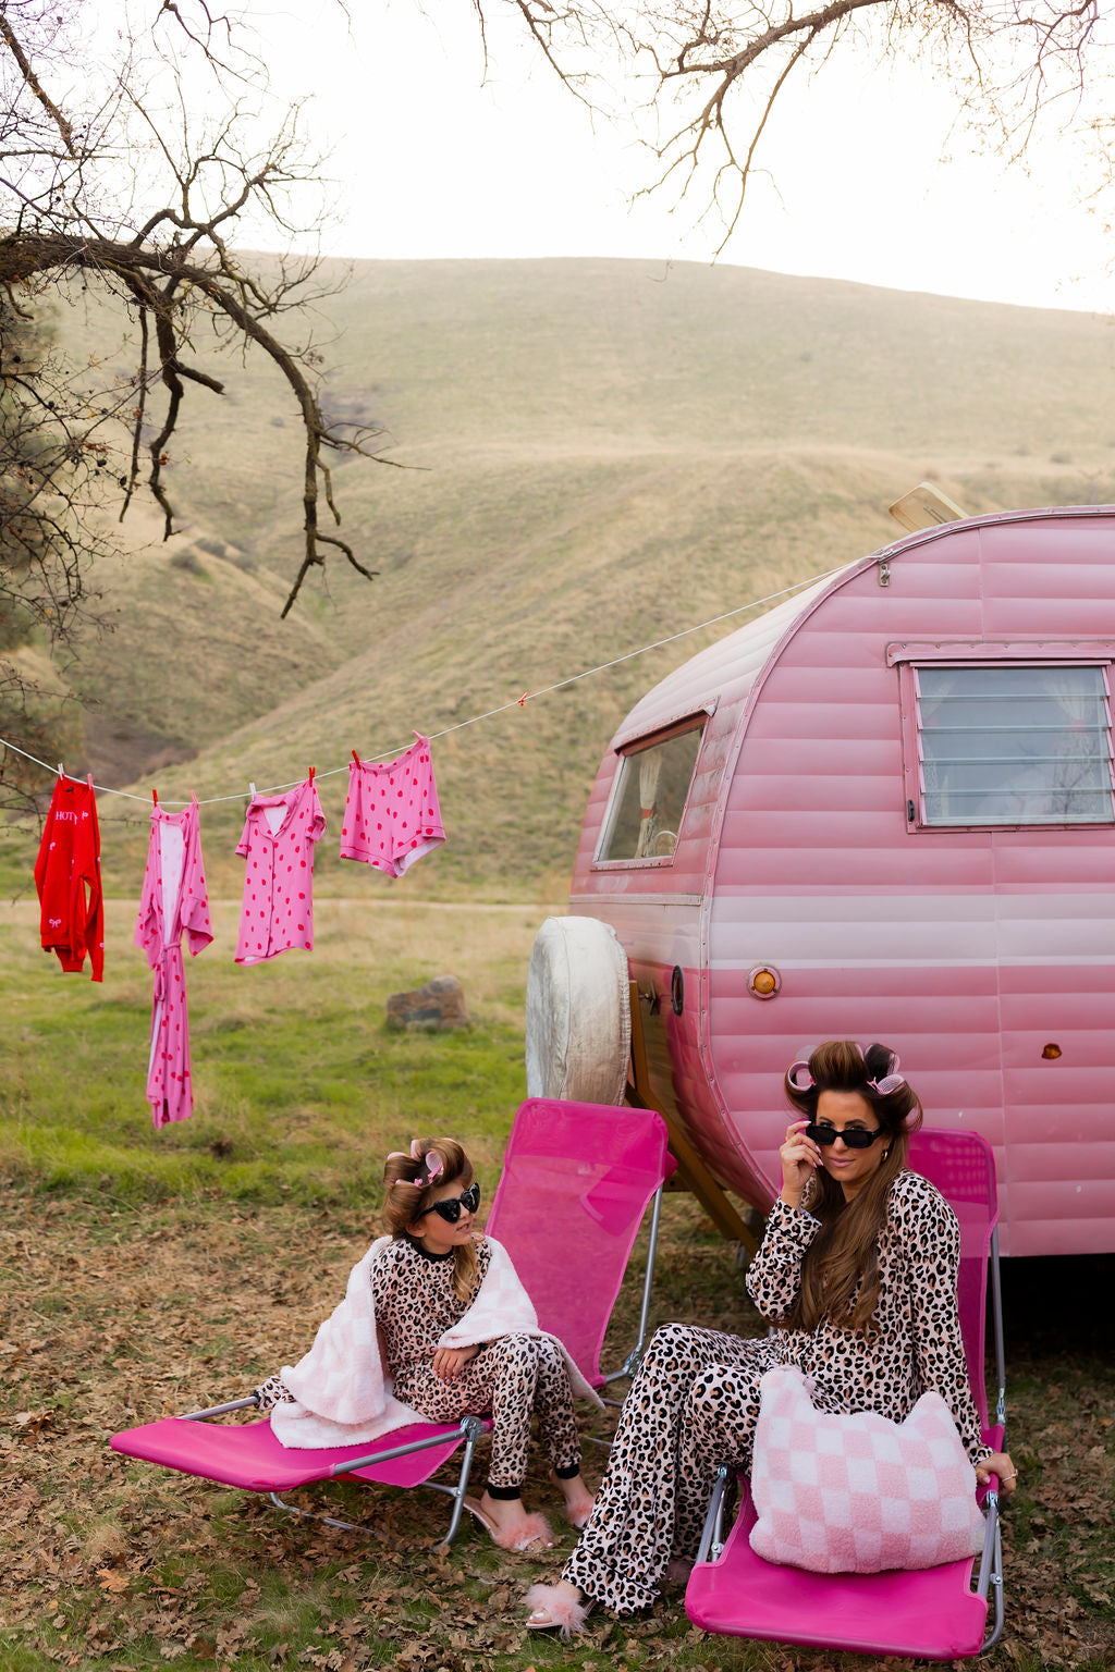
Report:
[[[797,1296],[801,1261],[817,1229],[801,1207],[779,1200],[771,1211],[746,1284],[774,1324]],[[956,1311],[960,1227],[919,1174],[894,1180],[878,1251],[871,1334],[827,1321],[762,1339],[685,1324],[657,1331],[563,1578],[614,1613],[635,1613],[657,1598],[670,1557],[695,1555],[717,1466],[751,1470],[759,1379],[776,1364],[812,1376],[812,1399],[824,1411],[879,1411],[903,1421],[923,1393],[936,1389],[971,1461],[991,1455],[981,1445]]]

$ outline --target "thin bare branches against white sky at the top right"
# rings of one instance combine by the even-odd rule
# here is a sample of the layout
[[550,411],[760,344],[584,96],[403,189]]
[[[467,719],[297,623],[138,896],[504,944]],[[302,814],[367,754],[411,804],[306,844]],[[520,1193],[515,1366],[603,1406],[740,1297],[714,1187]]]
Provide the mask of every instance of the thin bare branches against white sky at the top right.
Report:
[[[473,0],[483,15],[485,0]],[[652,137],[644,192],[719,207],[720,254],[737,229],[761,140],[791,79],[819,74],[838,47],[878,59],[929,59],[948,72],[970,120],[1008,159],[1058,104],[1108,74],[1098,0],[486,0],[525,27],[562,80],[593,109],[612,79]],[[667,137],[660,139],[659,134]],[[704,184],[702,184],[704,182]],[[637,194],[642,196],[642,194]],[[704,219],[702,211],[699,219]]]

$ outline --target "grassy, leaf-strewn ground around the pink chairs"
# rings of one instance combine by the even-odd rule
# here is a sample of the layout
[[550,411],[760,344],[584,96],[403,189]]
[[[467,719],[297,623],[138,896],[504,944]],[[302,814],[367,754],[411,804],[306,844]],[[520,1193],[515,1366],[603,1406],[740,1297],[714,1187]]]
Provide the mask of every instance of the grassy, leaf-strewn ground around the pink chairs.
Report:
[[[341,910],[344,938],[326,911],[318,951],[244,971],[234,908],[217,908],[219,938],[187,973],[197,1112],[164,1132],[144,1104],[149,976],[129,913],[110,910],[104,986],[59,975],[33,910],[0,923],[0,1672],[913,1672],[709,1639],[677,1592],[647,1620],[593,1617],[570,1649],[527,1634],[520,1607],[572,1547],[560,1522],[545,1563],[471,1525],[443,1558],[433,1493],[338,1483],[293,1496],[361,1523],[344,1532],[109,1450],[115,1430],[236,1398],[306,1349],[376,1231],[388,1149],[456,1135],[491,1199],[523,1093],[533,915]],[[465,983],[471,1032],[391,1033],[386,993],[445,970]],[[610,1364],[632,1341],[640,1259]],[[1008,1281],[1021,1471],[1005,1517],[1008,1624],[981,1665],[1108,1672],[1115,1363],[1095,1287],[1062,1282],[1051,1304],[1023,1264]],[[685,1195],[664,1209],[652,1324],[670,1318],[764,1328]],[[605,1436],[608,1423],[588,1426]],[[602,1456],[587,1448],[590,1480]],[[528,1500],[555,1508],[537,1455]]]

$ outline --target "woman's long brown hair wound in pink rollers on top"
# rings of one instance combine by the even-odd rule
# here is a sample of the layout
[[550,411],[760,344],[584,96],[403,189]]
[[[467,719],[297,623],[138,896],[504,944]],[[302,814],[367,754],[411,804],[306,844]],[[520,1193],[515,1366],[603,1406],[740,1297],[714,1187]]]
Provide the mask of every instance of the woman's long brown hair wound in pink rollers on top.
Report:
[[876,1139],[884,1145],[879,1167],[851,1200],[824,1167],[814,1172],[809,1212],[821,1229],[801,1262],[801,1287],[782,1328],[816,1329],[827,1318],[869,1331],[879,1299],[879,1232],[891,1185],[906,1165],[909,1134],[921,1125],[921,1100],[898,1072],[893,1050],[864,1050],[853,1040],[817,1045],[807,1065],[789,1068],[784,1085],[797,1114],[814,1122],[821,1092],[858,1092],[886,1137]]

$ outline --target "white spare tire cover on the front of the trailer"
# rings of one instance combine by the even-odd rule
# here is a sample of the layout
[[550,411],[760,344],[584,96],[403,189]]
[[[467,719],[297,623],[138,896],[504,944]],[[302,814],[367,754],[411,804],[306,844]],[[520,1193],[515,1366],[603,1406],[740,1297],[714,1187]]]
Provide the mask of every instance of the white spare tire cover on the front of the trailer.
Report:
[[547,918],[527,975],[527,1095],[622,1104],[630,1055],[627,955],[610,923]]

